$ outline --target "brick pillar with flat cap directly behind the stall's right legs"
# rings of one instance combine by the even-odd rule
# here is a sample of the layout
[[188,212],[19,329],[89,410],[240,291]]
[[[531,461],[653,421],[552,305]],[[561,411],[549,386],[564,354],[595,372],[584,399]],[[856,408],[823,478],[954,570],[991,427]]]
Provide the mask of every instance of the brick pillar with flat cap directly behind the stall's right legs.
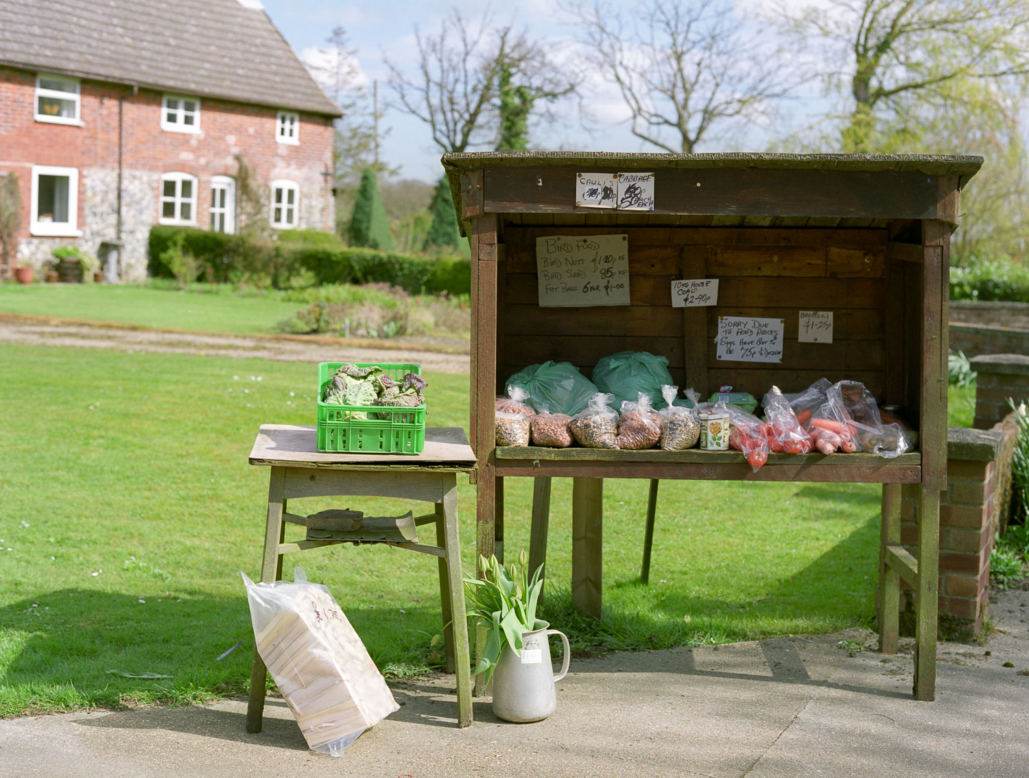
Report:
[[[990,551],[998,515],[997,458],[1005,433],[950,427],[947,430],[947,491],[939,502],[939,612],[983,626],[990,582]],[[900,490],[900,542],[914,553],[918,539],[918,485]],[[910,587],[901,592],[901,609]]]

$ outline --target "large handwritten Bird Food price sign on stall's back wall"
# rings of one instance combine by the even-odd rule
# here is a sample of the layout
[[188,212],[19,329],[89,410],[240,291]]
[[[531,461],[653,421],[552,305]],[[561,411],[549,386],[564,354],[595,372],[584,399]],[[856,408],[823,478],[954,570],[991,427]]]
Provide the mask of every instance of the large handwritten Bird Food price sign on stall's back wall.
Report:
[[536,239],[539,305],[629,305],[629,237],[551,235]]

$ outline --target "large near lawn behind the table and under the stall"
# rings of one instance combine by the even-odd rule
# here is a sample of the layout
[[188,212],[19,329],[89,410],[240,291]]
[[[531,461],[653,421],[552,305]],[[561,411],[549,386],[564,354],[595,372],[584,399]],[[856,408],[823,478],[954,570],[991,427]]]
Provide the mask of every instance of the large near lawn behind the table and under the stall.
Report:
[[[253,637],[239,573],[258,575],[268,488],[268,470],[247,454],[262,422],[313,423],[315,366],[10,345],[0,363],[0,715],[243,692]],[[466,427],[467,378],[428,380],[429,423]],[[531,483],[506,487],[510,554],[528,546]],[[643,587],[647,484],[608,481],[600,624],[571,613],[562,586],[571,486],[554,487],[541,617],[579,651],[872,624],[875,486],[665,482]],[[459,491],[471,570],[474,492],[463,479]],[[380,667],[410,674],[438,663],[434,561],[350,545],[298,556]]]

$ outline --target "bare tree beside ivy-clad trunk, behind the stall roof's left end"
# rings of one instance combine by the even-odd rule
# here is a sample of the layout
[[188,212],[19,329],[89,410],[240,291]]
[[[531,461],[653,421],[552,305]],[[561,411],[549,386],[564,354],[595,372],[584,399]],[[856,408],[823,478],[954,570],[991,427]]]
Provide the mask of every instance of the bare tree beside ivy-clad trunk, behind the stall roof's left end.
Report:
[[428,125],[443,151],[493,145],[498,137],[500,75],[503,69],[534,105],[547,106],[577,85],[557,67],[546,48],[509,25],[496,25],[489,11],[477,25],[454,10],[435,35],[415,28],[418,74],[409,77],[389,60],[396,107]]

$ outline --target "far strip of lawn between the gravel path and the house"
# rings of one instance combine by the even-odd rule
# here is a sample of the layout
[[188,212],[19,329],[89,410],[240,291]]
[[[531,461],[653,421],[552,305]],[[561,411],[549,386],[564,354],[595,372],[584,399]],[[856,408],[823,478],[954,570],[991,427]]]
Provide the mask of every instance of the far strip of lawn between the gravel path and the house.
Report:
[[179,291],[121,284],[0,284],[0,313],[245,334],[274,332],[278,321],[307,307],[282,300],[275,293],[194,287]]

